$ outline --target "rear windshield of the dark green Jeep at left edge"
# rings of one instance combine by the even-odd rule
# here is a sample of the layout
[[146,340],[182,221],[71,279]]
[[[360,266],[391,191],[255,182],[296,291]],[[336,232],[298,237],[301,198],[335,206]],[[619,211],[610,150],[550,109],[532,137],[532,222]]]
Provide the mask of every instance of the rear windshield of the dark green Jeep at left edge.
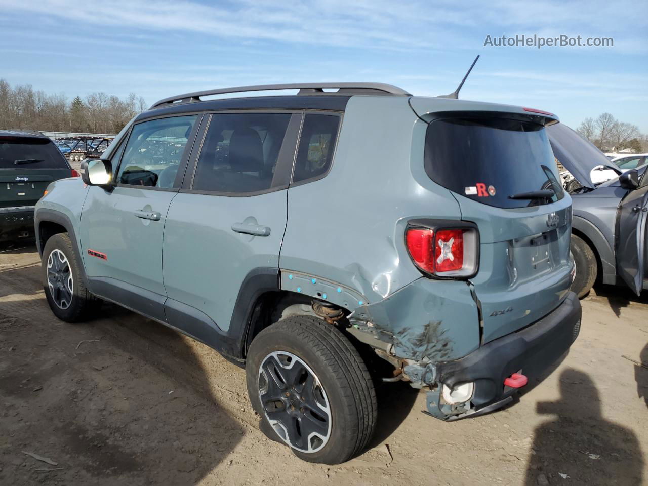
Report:
[[50,139],[0,137],[0,168],[68,168],[65,157]]

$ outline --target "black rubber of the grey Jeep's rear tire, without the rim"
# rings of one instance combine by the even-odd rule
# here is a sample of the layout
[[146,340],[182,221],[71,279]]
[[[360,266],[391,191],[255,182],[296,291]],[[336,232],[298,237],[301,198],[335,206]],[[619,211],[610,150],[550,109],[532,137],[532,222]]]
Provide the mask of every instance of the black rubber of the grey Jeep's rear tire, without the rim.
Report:
[[[316,452],[296,450],[279,437],[268,421],[266,408],[261,403],[259,376],[261,365],[275,352],[293,354],[307,364],[328,400],[329,435]],[[249,399],[261,417],[261,430],[270,439],[290,445],[294,454],[305,461],[343,463],[362,452],[373,435],[377,408],[369,371],[351,341],[321,319],[292,316],[262,330],[249,347],[246,378]],[[294,388],[286,388],[289,389]],[[303,391],[297,391],[297,394],[301,393]],[[288,403],[285,399],[283,406],[286,411]]]

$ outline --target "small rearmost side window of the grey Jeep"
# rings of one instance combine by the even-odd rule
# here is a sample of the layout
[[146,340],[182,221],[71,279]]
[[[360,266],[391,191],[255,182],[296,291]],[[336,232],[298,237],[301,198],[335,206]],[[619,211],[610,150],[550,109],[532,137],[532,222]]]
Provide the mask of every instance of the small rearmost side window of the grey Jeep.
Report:
[[314,179],[327,173],[333,159],[339,126],[338,115],[308,113],[304,117],[292,176],[294,183]]

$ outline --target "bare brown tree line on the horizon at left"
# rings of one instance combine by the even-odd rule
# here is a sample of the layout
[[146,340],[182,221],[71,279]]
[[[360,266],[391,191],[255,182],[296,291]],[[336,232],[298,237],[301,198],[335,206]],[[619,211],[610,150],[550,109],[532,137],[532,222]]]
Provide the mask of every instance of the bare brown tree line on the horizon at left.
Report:
[[123,100],[91,93],[68,101],[63,94],[34,91],[30,84],[12,87],[0,79],[0,129],[118,133],[146,108],[144,98],[135,93]]

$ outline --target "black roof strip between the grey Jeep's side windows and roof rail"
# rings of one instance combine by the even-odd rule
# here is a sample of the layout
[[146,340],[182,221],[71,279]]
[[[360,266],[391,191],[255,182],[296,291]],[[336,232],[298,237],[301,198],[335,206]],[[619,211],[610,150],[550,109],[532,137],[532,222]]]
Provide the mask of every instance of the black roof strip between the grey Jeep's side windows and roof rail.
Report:
[[154,108],[141,113],[136,121],[174,115],[216,110],[329,110],[344,111],[350,96],[264,96],[246,98],[221,98],[217,100],[193,101],[169,104],[165,108]]

